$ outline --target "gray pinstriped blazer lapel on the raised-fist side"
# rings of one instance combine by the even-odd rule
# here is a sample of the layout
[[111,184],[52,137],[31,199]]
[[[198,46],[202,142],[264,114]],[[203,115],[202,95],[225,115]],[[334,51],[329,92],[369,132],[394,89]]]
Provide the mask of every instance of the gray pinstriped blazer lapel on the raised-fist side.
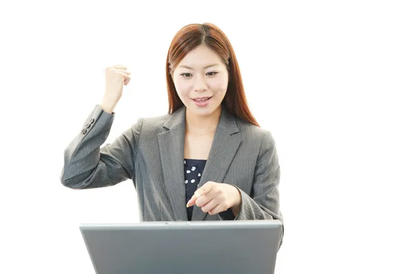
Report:
[[176,221],[187,221],[184,174],[185,108],[176,110],[157,135],[166,190]]

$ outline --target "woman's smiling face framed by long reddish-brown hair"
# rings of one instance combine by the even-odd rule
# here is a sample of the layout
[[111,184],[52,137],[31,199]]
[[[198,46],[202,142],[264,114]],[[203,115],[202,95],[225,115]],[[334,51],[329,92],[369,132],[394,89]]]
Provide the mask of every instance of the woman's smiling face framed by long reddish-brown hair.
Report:
[[226,95],[229,73],[222,58],[201,45],[187,53],[174,69],[172,78],[187,111],[209,116],[218,110]]

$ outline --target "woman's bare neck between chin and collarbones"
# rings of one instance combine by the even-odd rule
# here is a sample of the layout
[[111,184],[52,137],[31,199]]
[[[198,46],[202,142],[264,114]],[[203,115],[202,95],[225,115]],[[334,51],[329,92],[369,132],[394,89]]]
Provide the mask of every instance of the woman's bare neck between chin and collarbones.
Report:
[[208,116],[198,116],[186,109],[186,132],[196,135],[214,133],[221,113],[222,105]]

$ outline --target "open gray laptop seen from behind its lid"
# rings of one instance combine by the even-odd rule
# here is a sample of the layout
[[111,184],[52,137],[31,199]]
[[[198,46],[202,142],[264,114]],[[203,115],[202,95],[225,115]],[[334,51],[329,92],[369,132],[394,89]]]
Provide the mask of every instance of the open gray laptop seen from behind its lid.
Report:
[[281,229],[278,220],[80,225],[98,274],[273,274]]

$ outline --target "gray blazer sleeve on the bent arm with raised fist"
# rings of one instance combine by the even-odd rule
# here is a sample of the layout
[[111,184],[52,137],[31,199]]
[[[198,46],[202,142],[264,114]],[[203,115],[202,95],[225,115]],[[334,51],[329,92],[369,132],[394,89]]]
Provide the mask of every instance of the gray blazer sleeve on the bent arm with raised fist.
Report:
[[135,166],[135,148],[142,119],[100,148],[111,130],[115,114],[96,105],[82,131],[65,149],[60,182],[73,189],[113,186],[131,179]]

